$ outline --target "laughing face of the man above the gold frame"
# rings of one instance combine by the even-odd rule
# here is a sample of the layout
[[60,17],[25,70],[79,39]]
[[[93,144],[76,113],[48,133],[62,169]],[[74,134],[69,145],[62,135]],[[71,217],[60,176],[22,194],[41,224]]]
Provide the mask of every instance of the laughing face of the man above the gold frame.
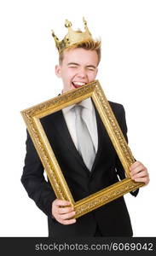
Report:
[[76,48],[65,50],[61,65],[55,66],[62,79],[63,92],[76,89],[95,80],[98,56],[95,50]]

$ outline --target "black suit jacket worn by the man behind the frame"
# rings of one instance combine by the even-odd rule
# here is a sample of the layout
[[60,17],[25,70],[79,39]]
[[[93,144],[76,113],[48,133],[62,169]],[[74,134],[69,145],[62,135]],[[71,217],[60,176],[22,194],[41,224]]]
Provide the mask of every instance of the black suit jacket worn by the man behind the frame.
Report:
[[[110,102],[110,104],[127,140],[124,108],[118,103]],[[62,111],[52,113],[41,121],[75,201],[118,182],[118,177],[119,179],[125,177],[124,168],[118,160],[118,155],[96,109],[95,114],[98,129],[98,150],[91,172],[85,166],[72,142]],[[56,198],[55,193],[49,181],[46,182],[43,177],[43,165],[28,133],[26,159],[21,182],[28,195],[48,216],[49,236],[94,236],[97,225],[102,236],[132,236],[133,234],[129,212],[123,196],[78,218],[75,224],[63,225],[52,218],[51,204]],[[136,196],[137,193],[138,189],[130,194]]]

